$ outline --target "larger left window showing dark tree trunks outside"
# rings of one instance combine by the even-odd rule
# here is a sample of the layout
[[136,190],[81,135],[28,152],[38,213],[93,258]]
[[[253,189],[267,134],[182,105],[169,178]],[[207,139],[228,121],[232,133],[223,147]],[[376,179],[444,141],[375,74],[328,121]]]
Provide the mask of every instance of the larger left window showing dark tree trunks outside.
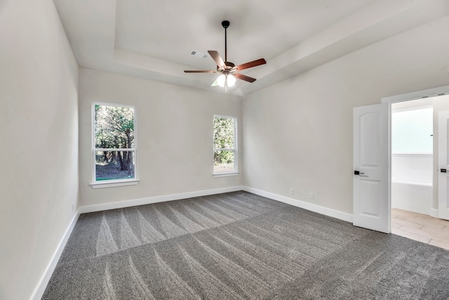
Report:
[[93,188],[136,184],[135,111],[93,104]]

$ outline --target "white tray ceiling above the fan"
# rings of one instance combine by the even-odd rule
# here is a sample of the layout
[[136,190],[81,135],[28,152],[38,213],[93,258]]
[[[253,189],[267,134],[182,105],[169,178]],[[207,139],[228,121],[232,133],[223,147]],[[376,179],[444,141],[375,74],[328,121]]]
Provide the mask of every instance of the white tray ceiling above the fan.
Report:
[[306,72],[449,13],[449,0],[54,0],[81,67],[194,86],[214,86],[216,50],[236,65],[265,58],[228,93],[239,96]]

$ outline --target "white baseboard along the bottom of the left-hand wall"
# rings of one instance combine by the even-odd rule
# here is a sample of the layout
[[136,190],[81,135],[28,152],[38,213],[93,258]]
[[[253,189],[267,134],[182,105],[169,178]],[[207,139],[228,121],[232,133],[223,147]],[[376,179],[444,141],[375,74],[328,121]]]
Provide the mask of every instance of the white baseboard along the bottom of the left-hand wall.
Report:
[[39,283],[36,285],[36,288],[34,289],[34,292],[30,299],[38,300],[42,298],[43,292],[45,292],[45,289],[48,285],[48,281],[50,281],[51,275],[53,274],[53,271],[55,270],[56,265],[58,264],[58,261],[61,257],[62,250],[64,250],[65,245],[67,244],[67,241],[72,234],[73,228],[75,227],[76,221],[78,221],[78,217],[79,210],[76,211],[76,214],[70,222],[69,227],[67,228],[67,230],[65,230],[64,235],[62,235],[62,239],[58,244],[58,247],[56,247],[56,251],[53,254],[50,262],[48,263],[47,268],[43,271],[41,280],[39,280]]

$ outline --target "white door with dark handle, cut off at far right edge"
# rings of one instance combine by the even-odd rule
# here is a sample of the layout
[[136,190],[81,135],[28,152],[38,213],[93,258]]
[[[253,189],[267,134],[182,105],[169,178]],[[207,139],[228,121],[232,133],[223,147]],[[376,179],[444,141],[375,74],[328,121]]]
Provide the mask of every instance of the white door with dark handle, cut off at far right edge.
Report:
[[438,218],[449,220],[449,111],[438,112]]

